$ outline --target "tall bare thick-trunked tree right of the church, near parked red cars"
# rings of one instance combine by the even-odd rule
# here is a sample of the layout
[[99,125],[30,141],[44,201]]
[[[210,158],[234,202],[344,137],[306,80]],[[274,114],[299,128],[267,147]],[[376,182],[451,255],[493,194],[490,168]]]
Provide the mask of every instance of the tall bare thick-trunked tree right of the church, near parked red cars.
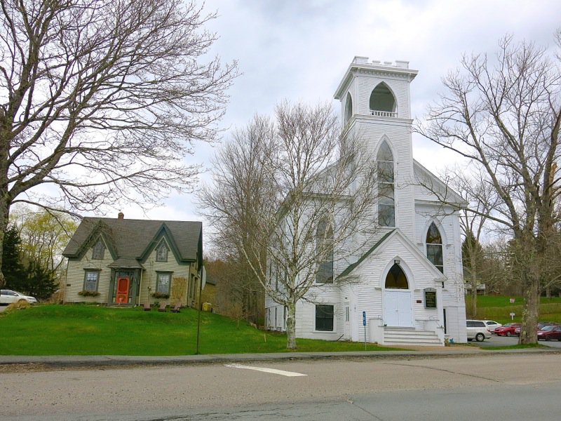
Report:
[[524,288],[520,342],[535,343],[542,268],[561,192],[559,63],[543,48],[508,36],[496,60],[464,56],[443,83],[446,93],[418,130],[464,156],[500,199],[487,218],[513,238],[513,268]]

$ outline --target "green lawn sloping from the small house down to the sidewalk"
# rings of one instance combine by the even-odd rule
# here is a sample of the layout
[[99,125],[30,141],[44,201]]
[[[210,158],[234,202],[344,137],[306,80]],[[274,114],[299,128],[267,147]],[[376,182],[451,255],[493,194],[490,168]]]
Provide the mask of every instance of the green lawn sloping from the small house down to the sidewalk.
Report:
[[[0,313],[1,355],[192,355],[197,312],[36,305]],[[9,338],[9,339],[8,339]],[[297,340],[299,352],[364,351],[361,342]],[[286,336],[218,314],[201,314],[201,354],[286,352]],[[392,350],[367,344],[368,351]]]

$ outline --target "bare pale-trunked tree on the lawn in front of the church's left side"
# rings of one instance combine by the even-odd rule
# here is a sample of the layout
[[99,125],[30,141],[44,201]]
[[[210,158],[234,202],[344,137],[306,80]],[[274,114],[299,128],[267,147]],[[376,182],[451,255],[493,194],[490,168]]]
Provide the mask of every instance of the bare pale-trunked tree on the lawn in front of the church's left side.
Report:
[[255,118],[222,151],[203,204],[266,294],[286,307],[287,347],[295,349],[297,302],[336,281],[328,267],[356,252],[351,237],[377,226],[376,167],[328,105],[284,102],[274,122]]

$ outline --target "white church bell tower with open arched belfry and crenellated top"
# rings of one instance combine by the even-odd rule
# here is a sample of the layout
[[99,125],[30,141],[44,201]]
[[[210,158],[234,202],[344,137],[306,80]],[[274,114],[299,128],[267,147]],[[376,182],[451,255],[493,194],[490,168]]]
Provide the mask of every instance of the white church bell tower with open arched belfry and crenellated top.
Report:
[[[409,62],[355,57],[335,92],[344,126],[378,166],[378,225],[414,236],[413,146]],[[384,171],[381,172],[381,169]]]

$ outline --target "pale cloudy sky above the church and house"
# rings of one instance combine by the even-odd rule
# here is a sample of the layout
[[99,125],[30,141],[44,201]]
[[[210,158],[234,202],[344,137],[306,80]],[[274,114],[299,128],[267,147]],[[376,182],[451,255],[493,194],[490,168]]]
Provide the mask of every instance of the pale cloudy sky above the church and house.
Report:
[[[553,49],[553,32],[561,27],[559,0],[207,0],[205,10],[218,12],[207,26],[219,36],[211,53],[237,60],[241,72],[229,91],[224,138],[255,113],[271,114],[280,100],[333,100],[355,55],[407,60],[419,70],[411,98],[412,115],[421,119],[442,90],[440,78],[463,53],[493,55],[505,34]],[[413,152],[437,173],[453,159],[420,138]],[[212,153],[198,145],[193,159],[208,167]],[[195,201],[173,196],[148,213],[123,212],[126,218],[202,220]]]

